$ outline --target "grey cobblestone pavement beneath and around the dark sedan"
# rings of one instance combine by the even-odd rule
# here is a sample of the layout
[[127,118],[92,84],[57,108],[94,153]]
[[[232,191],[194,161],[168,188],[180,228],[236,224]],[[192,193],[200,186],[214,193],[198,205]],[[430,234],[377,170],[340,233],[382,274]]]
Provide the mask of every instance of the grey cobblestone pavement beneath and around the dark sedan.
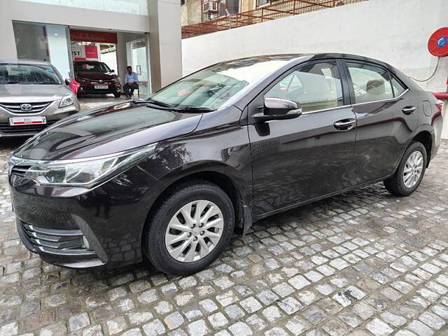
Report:
[[[14,144],[8,145],[13,147]],[[0,335],[448,335],[448,142],[411,197],[381,183],[254,226],[209,269],[77,271],[20,243],[0,151]]]

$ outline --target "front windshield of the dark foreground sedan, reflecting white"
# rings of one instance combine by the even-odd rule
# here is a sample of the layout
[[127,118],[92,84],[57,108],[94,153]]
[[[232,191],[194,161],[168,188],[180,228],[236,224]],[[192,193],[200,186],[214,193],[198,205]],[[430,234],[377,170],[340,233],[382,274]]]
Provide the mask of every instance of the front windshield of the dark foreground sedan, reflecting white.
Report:
[[288,61],[286,57],[253,57],[216,64],[165,87],[151,99],[178,108],[219,109],[233,104]]

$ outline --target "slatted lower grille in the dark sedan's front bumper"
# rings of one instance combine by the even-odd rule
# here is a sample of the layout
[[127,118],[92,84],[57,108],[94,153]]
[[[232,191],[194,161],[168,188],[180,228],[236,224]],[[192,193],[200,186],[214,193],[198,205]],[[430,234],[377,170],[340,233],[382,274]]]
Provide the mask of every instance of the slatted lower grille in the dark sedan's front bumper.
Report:
[[27,239],[38,248],[51,248],[61,251],[83,250],[81,230],[52,230],[38,228],[20,221]]

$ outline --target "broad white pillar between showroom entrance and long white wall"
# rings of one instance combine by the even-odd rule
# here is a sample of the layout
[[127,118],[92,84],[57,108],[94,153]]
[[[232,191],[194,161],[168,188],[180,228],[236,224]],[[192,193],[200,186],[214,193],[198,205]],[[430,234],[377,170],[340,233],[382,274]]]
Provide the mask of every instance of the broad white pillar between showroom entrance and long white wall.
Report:
[[149,58],[153,92],[182,76],[181,1],[149,0]]

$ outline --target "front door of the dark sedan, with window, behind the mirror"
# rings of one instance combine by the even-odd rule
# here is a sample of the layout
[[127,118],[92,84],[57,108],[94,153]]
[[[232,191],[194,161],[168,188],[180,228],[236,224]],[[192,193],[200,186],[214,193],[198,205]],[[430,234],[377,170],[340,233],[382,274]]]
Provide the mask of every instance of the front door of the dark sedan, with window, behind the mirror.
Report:
[[295,119],[248,125],[256,214],[356,183],[351,178],[356,116],[346,106],[348,90],[339,73],[336,61],[301,65],[269,85],[248,106],[251,116],[259,112],[265,97],[276,97],[297,102],[303,111]]

